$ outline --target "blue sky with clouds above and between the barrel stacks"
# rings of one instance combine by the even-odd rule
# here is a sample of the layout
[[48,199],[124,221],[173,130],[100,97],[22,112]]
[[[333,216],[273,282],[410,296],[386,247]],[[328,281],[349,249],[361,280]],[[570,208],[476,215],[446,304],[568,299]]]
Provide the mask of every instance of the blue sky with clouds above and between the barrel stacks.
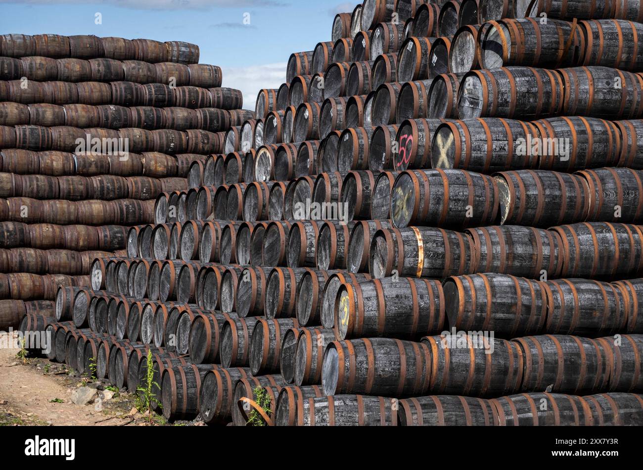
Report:
[[[223,85],[244,93],[254,109],[258,90],[285,81],[291,53],[331,41],[332,20],[358,0],[0,0],[0,31],[95,34],[198,44],[203,64],[223,69]],[[95,24],[100,12],[102,24]],[[244,14],[249,25],[244,25]]]

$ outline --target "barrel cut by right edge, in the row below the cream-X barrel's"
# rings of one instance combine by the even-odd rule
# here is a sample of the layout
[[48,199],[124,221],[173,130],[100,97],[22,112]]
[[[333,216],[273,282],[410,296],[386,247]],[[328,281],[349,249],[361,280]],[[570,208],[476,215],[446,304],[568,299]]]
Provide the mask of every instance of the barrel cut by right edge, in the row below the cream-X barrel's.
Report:
[[590,186],[586,221],[639,222],[643,211],[641,174],[629,168],[602,168],[580,172]]

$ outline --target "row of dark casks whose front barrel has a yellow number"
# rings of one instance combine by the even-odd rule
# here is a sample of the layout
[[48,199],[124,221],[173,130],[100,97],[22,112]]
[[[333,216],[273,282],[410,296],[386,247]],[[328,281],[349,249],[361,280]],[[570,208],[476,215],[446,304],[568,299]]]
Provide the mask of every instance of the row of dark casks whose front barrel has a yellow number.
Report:
[[[542,278],[547,278],[544,269]],[[131,299],[192,304],[205,311],[235,312],[240,318],[296,318],[302,327],[334,328],[341,339],[406,339],[439,333],[447,325],[491,329],[510,337],[643,332],[640,279],[543,281],[491,272],[453,275],[442,284],[337,269],[97,258],[91,280],[96,291]],[[401,298],[413,302],[398,305]]]

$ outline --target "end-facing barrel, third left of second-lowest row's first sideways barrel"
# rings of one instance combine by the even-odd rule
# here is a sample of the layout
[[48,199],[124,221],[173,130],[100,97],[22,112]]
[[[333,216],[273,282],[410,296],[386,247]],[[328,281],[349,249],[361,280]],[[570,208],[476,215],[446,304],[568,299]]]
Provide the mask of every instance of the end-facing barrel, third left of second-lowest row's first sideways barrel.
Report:
[[298,327],[294,318],[260,318],[255,323],[249,349],[250,371],[253,375],[279,372],[279,357],[285,333]]

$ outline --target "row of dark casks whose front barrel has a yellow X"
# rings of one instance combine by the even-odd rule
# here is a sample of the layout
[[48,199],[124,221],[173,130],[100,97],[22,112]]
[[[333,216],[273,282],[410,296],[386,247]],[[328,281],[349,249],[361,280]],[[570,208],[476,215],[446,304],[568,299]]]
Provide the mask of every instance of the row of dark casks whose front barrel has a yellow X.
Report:
[[[221,163],[219,168],[217,163],[210,165],[212,161]],[[345,214],[329,215],[329,219],[344,215],[345,222],[392,219],[399,228],[410,224],[466,228],[496,221],[547,228],[584,221],[638,222],[643,204],[638,193],[640,170],[630,168],[597,168],[576,174],[512,170],[493,176],[459,169],[361,170],[320,173],[288,182],[226,179],[224,184],[221,172],[219,181],[208,176],[208,166],[214,167],[214,179],[217,170],[228,174],[232,168],[240,179],[238,165],[242,163],[238,153],[195,162],[188,174],[189,190],[159,195],[156,221],[292,221],[311,218],[303,215],[314,203],[346,208]],[[194,174],[203,174],[203,168],[202,186]],[[442,199],[428,203],[427,197]],[[560,210],[545,212],[547,204],[556,204]]]

